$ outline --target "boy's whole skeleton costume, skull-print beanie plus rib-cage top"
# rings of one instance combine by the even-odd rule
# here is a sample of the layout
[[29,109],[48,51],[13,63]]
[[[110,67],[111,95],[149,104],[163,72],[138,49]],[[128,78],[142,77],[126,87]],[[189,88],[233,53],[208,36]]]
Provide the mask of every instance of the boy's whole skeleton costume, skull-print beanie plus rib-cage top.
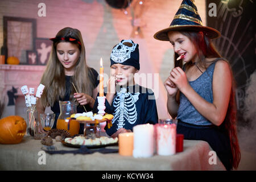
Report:
[[[131,43],[131,47],[123,43]],[[139,45],[132,40],[122,40],[113,48],[110,55],[111,65],[123,64],[131,65],[139,70]],[[105,88],[106,90],[106,88]],[[106,92],[105,92],[106,93]],[[93,113],[97,113],[98,100],[94,104]],[[112,105],[105,101],[105,112],[114,115],[112,127],[105,127],[106,133],[111,136],[117,130],[125,128],[133,131],[135,125],[145,123],[155,124],[158,122],[158,112],[156,109],[155,96],[151,89],[140,85],[119,88],[115,93]]]

